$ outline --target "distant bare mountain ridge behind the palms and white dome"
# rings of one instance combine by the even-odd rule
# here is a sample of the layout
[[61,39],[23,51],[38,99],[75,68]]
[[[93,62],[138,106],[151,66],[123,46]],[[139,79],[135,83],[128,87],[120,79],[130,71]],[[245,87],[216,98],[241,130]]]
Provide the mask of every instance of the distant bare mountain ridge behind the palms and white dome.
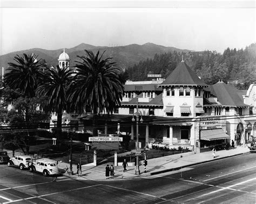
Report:
[[[28,50],[14,51],[4,55],[0,55],[0,67],[8,68],[8,62],[15,62],[14,57],[16,55],[22,55],[23,53],[31,54],[34,53],[38,55],[38,59],[44,59],[48,66],[58,65],[58,57],[63,52],[64,48],[59,48],[57,50],[46,50],[43,48],[30,48]],[[128,68],[134,64],[138,64],[142,60],[148,58],[153,58],[155,54],[163,54],[167,52],[189,52],[190,50],[179,49],[176,47],[165,47],[163,45],[157,45],[153,43],[145,43],[143,45],[130,44],[125,46],[94,46],[90,44],[81,43],[75,47],[65,48],[65,52],[70,57],[70,66],[75,66],[75,61],[78,60],[77,55],[85,55],[84,50],[90,50],[92,52],[100,53],[104,52],[103,57],[112,57],[113,61],[117,62],[122,68]],[[2,71],[1,71],[2,75]]]

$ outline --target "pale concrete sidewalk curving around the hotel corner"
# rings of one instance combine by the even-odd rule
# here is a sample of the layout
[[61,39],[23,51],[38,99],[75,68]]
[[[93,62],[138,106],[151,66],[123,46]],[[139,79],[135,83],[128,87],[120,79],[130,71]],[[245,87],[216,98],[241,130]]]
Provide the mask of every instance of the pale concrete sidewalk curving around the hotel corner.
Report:
[[[136,166],[128,166],[127,171],[123,172],[123,166],[114,166],[114,180],[116,179],[134,179],[137,177],[149,177],[150,175],[165,173],[169,171],[179,170],[188,166],[205,163],[212,160],[223,159],[227,157],[233,157],[240,154],[250,152],[247,146],[238,146],[235,149],[220,150],[216,152],[216,157],[213,159],[212,152],[203,152],[194,154],[194,152],[187,152],[181,154],[173,154],[171,156],[159,157],[147,160],[146,172],[144,173],[144,166],[140,165],[140,175],[135,175]],[[182,157],[181,157],[182,156]],[[108,163],[111,165],[112,163]],[[78,177],[77,174],[69,175],[64,173],[63,175],[77,180],[106,180],[105,167],[107,164],[98,166],[82,165],[82,177]],[[70,167],[69,164],[59,163],[59,168]],[[76,173],[76,165],[72,165],[73,172]]]

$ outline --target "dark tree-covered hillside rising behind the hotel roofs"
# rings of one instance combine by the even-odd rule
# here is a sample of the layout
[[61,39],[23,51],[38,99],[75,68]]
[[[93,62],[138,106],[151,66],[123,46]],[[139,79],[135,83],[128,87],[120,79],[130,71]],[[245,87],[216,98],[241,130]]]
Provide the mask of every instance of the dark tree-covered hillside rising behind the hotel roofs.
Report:
[[204,52],[168,52],[155,54],[153,59],[140,61],[126,69],[126,79],[132,81],[148,80],[147,74],[161,74],[166,78],[181,61],[190,66],[208,85],[218,80],[237,80],[237,88],[247,89],[256,82],[256,44],[247,46],[244,50],[226,48],[223,54],[215,51]]

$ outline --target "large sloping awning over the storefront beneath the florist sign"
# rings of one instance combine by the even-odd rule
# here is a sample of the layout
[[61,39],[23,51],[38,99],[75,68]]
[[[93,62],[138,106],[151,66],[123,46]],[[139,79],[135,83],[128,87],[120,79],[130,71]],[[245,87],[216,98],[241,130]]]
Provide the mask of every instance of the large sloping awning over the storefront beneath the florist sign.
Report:
[[201,140],[217,140],[217,139],[230,139],[230,136],[227,135],[223,129],[209,129],[209,130],[200,130]]

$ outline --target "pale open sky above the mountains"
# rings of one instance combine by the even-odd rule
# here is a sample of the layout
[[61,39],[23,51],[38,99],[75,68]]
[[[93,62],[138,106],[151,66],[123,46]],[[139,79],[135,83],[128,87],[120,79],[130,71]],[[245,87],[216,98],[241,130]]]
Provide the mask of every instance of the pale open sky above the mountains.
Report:
[[81,43],[95,46],[154,43],[223,53],[227,47],[240,49],[255,43],[255,6],[214,9],[2,6],[0,12],[0,55],[35,47],[71,48]]

